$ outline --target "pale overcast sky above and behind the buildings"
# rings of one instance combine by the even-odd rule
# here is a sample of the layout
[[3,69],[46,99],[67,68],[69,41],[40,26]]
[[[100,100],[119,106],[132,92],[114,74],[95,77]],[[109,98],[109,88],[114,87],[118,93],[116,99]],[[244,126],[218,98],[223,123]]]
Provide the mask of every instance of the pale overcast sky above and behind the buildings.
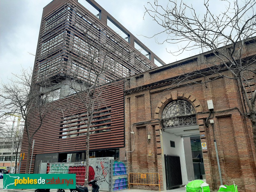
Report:
[[[29,53],[36,53],[43,8],[51,1],[0,0],[0,77],[3,81],[6,81],[7,77],[10,78],[11,73],[19,73],[20,66],[33,67],[35,57]],[[173,51],[175,45],[156,44],[154,38],[142,36],[152,36],[161,31],[149,16],[143,20],[144,5],[147,5],[148,0],[96,0],[96,2],[165,63],[198,54],[185,52],[182,55],[173,56],[166,52],[166,49]],[[202,3],[202,0],[194,0],[193,4],[197,6],[199,2]],[[213,6],[217,8],[216,10],[220,10],[222,6],[219,5],[214,3]]]

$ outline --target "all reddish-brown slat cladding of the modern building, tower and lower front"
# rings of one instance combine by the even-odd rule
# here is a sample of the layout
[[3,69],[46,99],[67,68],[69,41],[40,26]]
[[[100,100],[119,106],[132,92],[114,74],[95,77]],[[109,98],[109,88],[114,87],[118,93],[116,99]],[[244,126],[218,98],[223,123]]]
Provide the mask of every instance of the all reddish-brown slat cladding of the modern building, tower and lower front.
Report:
[[[111,57],[118,60],[119,64],[113,70],[106,72],[105,77],[103,77],[105,79],[102,79],[103,82],[114,81],[115,83],[108,83],[100,87],[101,90],[103,89],[100,96],[100,106],[98,106],[100,110],[97,111],[100,115],[96,116],[98,119],[92,122],[95,125],[92,126],[93,130],[90,135],[90,150],[123,148],[124,81],[116,82],[116,80],[156,68],[154,58],[163,64],[165,63],[99,4],[94,0],[90,0],[90,2],[100,10],[99,18],[79,4],[77,0],[53,0],[44,7],[36,48],[33,78],[36,80],[42,77],[51,77],[54,80],[61,76],[63,63],[68,61],[70,56],[76,58],[79,51],[89,49],[84,45],[84,41],[88,38],[84,35],[84,29],[90,28],[89,38],[96,44],[101,44],[103,50],[107,50],[109,47],[112,48],[114,52]],[[128,34],[130,40],[127,42],[108,27],[108,20],[122,28]],[[151,57],[147,57],[138,51],[134,47],[134,41],[150,53]],[[73,58],[72,60],[74,60],[77,67],[84,67],[81,61]],[[100,62],[99,60],[99,65]],[[71,65],[73,66],[73,63]],[[71,68],[69,65],[66,66]],[[85,73],[86,69],[84,69],[83,74]],[[81,79],[86,80],[86,77],[81,76]],[[36,144],[32,157],[32,172],[37,154],[75,153],[86,150],[85,135],[83,135],[86,131],[82,130],[86,128],[86,124],[74,117],[79,113],[86,113],[86,109],[81,104],[81,100],[78,98],[71,99],[73,97],[74,95],[71,95],[48,104],[50,110],[46,114],[42,127],[33,137]],[[104,118],[104,121],[102,118]],[[36,111],[30,112],[28,121],[33,124],[30,129],[38,126],[39,120]],[[103,123],[99,124],[102,121]],[[106,127],[110,131],[106,131]],[[70,129],[67,131],[67,128]],[[27,147],[28,138],[24,132],[21,152],[26,153]],[[25,156],[26,159],[27,156]],[[24,171],[25,161],[21,161],[21,172]]]

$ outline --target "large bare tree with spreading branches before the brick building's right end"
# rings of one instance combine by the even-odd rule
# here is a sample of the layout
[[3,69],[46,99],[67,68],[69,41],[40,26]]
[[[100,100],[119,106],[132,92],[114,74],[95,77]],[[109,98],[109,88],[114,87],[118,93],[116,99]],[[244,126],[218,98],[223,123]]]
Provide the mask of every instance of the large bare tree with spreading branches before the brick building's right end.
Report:
[[198,76],[204,77],[202,83],[220,76],[235,79],[249,109],[249,113],[244,115],[251,120],[256,149],[256,90],[253,86],[256,70],[255,54],[252,52],[256,42],[256,2],[220,1],[224,11],[217,14],[210,6],[214,4],[210,0],[204,1],[199,11],[183,1],[169,0],[168,4],[161,3],[155,0],[145,7],[145,13],[163,27],[163,30],[153,37],[159,34],[167,35],[164,41],[159,43],[177,44],[178,49],[170,51],[173,55],[197,49],[202,52],[210,51],[209,56],[215,58],[205,59],[199,70],[184,68],[176,82],[198,83],[195,81]]

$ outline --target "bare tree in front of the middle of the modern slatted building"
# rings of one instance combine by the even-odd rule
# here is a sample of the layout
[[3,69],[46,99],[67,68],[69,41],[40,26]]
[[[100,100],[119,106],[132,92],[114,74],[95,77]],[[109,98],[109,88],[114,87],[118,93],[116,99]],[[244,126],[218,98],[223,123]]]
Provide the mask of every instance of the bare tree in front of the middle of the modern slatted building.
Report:
[[[127,55],[114,49],[111,40],[102,38],[104,32],[97,34],[94,32],[97,24],[92,24],[82,31],[82,38],[74,36],[70,38],[68,45],[68,59],[63,62],[63,76],[66,77],[66,86],[68,85],[68,94],[73,94],[68,97],[70,100],[67,108],[62,108],[63,112],[69,114],[69,118],[65,118],[68,129],[71,118],[76,117],[83,123],[83,130],[86,132],[80,135],[86,135],[86,171],[85,179],[89,180],[89,140],[90,130],[92,126],[93,117],[106,106],[101,94],[111,82],[116,79],[127,76],[127,71],[123,71],[123,63],[129,62],[132,53]],[[116,42],[117,43],[117,42]],[[77,105],[79,100],[81,105]],[[74,110],[74,108],[76,110]],[[72,132],[72,131],[71,131]],[[84,185],[87,181],[85,180]]]

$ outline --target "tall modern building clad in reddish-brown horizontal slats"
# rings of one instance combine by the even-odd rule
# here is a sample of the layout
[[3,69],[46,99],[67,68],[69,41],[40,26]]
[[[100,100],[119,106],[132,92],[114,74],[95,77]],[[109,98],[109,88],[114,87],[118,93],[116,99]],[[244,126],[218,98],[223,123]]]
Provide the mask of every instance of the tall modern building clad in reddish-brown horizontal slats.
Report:
[[[81,81],[93,79],[93,73],[88,75],[91,61],[86,59],[92,50],[98,54],[96,68],[105,65],[103,56],[109,62],[115,61],[115,66],[100,76],[102,93],[92,122],[90,156],[124,158],[124,82],[116,80],[165,63],[94,0],[53,0],[43,10],[33,69],[35,84],[42,79],[54,84],[45,85],[53,93],[44,98],[52,109],[33,136],[31,172],[38,173],[41,162],[85,160],[87,124],[81,120],[85,118],[81,114],[85,116],[86,109],[77,107],[82,106],[81,100],[70,100],[69,95],[74,92],[66,75],[67,71],[79,70]],[[80,118],[72,115],[75,112],[70,114],[70,110],[80,114]],[[33,124],[31,130],[39,124],[34,113],[31,111],[28,119]],[[27,140],[24,134],[21,152],[26,153]],[[25,170],[27,158],[25,155],[21,171]]]

